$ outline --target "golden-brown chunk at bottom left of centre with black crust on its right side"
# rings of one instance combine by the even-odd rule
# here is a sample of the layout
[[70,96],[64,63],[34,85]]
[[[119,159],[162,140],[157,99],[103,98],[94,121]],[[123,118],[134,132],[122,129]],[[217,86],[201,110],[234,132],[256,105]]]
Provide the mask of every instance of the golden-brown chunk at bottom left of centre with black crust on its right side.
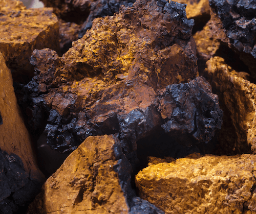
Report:
[[136,197],[131,171],[116,137],[88,137],[42,186],[27,214],[163,213]]

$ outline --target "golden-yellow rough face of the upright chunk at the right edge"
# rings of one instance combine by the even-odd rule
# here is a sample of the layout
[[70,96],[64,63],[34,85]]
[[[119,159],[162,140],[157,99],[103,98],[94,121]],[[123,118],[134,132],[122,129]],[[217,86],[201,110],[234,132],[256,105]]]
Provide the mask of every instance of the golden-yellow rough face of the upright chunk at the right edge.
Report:
[[236,72],[221,57],[206,62],[205,75],[230,112],[237,134],[236,149],[249,145],[256,153],[256,85],[246,80],[248,74]]

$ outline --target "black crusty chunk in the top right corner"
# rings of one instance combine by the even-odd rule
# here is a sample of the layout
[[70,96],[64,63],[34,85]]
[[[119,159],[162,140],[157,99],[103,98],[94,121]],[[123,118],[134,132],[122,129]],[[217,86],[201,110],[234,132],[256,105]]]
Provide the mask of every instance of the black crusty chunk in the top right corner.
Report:
[[256,2],[209,0],[233,47],[256,58]]

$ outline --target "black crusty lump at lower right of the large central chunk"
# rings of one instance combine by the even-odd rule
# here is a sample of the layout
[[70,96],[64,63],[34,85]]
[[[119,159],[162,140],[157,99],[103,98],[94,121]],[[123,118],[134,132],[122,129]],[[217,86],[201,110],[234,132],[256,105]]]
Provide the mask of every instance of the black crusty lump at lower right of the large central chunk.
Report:
[[160,99],[165,132],[180,137],[193,135],[198,142],[208,142],[222,125],[223,112],[216,94],[204,78],[189,83],[168,85]]

